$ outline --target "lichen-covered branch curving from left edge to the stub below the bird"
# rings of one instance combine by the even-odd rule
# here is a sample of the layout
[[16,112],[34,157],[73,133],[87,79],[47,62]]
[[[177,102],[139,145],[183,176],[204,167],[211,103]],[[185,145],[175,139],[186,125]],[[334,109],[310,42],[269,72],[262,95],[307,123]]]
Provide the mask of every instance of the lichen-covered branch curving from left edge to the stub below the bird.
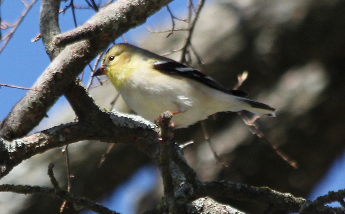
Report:
[[136,143],[149,157],[158,161],[155,152],[158,146],[157,130],[154,124],[139,116],[103,114],[108,115],[107,120],[60,125],[13,141],[0,139],[0,178],[35,154],[82,140]]

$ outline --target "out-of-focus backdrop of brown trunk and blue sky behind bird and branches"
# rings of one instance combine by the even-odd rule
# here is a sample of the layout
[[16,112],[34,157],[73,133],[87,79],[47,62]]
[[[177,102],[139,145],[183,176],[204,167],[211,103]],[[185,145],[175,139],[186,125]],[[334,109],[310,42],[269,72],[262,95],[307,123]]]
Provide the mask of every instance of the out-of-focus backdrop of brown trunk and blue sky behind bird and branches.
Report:
[[[39,33],[40,3],[34,4],[0,53],[0,83],[30,87],[49,65],[42,42],[30,42]],[[61,2],[61,9],[69,3]],[[86,7],[85,1],[74,3]],[[198,1],[193,3],[197,6]],[[176,17],[186,19],[186,0],[175,0],[169,7]],[[2,36],[10,31],[3,29],[4,23],[14,23],[22,10],[21,1],[0,1]],[[345,188],[344,11],[342,0],[206,1],[191,40],[204,62],[205,71],[228,88],[237,83],[238,74],[248,71],[248,79],[240,89],[247,91],[249,98],[277,108],[277,116],[257,120],[269,142],[253,135],[236,113],[218,113],[206,120],[212,145],[228,167],[215,159],[200,124],[176,130],[179,143],[194,141],[184,153],[202,181],[229,180],[268,186],[310,200]],[[94,13],[76,10],[77,24],[81,25]],[[59,23],[62,32],[74,28],[70,9],[60,14]],[[144,25],[130,30],[125,38],[158,54],[169,53],[184,44],[185,31],[176,31],[166,38],[168,33],[152,34],[145,26],[154,31],[170,30],[171,19],[166,8]],[[176,28],[184,26],[184,22],[176,22]],[[179,61],[181,53],[175,52],[169,57]],[[192,64],[199,68],[195,57]],[[89,69],[85,70],[85,84],[90,73]],[[1,119],[25,93],[1,87]],[[90,94],[98,105],[110,108],[116,91],[106,82],[91,89]],[[115,109],[130,112],[121,99]],[[70,122],[75,117],[63,97],[48,116],[34,131]],[[296,161],[298,168],[279,157],[271,145]],[[162,196],[157,167],[136,148],[121,144],[116,144],[98,167],[108,146],[108,143],[94,141],[69,146],[71,192],[126,214],[156,206]],[[60,186],[66,188],[66,157],[61,148],[24,161],[0,183],[50,187],[47,169],[51,162],[55,164]],[[247,213],[262,213],[267,208],[265,204],[216,200]],[[46,195],[0,193],[1,213],[59,213],[61,204],[60,200]],[[91,213],[75,211],[72,204],[69,207],[64,213]]]

